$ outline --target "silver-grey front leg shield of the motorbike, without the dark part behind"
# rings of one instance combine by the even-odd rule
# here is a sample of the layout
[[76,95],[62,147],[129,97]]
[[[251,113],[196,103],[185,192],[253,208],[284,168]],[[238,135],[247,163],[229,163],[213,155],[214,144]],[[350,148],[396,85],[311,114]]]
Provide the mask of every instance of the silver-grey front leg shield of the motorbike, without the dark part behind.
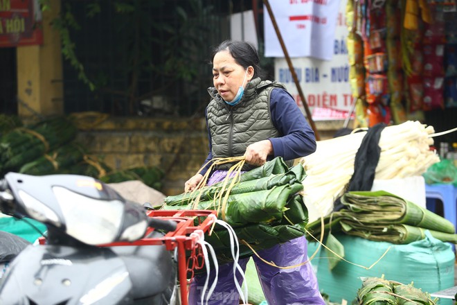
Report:
[[0,304],[131,304],[132,281],[109,248],[26,247],[1,281]]

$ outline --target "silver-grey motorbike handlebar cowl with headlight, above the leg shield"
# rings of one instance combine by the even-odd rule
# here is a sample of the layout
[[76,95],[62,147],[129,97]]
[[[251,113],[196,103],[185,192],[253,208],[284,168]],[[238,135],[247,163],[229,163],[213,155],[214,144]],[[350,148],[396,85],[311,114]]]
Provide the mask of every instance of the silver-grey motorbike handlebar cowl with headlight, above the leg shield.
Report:
[[[5,175],[14,202],[8,214],[29,217],[88,245],[136,241],[147,228],[143,207],[82,175]],[[93,234],[96,232],[96,234]]]

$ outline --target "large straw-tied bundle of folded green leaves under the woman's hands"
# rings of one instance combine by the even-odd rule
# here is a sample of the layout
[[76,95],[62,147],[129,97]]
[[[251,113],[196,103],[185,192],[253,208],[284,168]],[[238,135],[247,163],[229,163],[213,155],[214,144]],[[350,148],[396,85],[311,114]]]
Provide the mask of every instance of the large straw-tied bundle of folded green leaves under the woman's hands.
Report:
[[[240,175],[231,188],[231,181],[204,186],[192,193],[165,198],[161,209],[214,209],[217,218],[233,227],[240,241],[240,257],[253,250],[267,249],[305,235],[307,209],[302,196],[305,179],[303,166],[288,168],[277,157],[259,168]],[[233,178],[237,179],[237,178]],[[205,236],[219,262],[232,260],[230,237],[226,229],[215,226]],[[245,243],[248,243],[246,245]]]

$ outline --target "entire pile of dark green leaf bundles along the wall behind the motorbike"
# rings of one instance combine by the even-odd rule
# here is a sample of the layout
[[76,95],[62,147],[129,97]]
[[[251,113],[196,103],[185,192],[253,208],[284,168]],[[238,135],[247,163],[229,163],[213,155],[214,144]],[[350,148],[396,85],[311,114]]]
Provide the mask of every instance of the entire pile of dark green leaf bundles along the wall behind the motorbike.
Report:
[[106,183],[139,180],[160,190],[163,171],[156,166],[114,170],[75,141],[73,121],[57,116],[12,128],[0,135],[0,174],[10,171],[28,175],[74,174]]

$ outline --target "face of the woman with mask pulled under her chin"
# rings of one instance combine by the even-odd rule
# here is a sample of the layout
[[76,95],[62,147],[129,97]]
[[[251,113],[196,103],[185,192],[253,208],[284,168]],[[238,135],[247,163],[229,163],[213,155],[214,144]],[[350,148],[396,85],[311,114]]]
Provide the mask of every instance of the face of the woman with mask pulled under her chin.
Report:
[[[253,76],[253,67],[247,71],[232,57],[228,51],[220,51],[213,58],[213,83],[224,101],[232,101],[240,86],[246,85]],[[244,76],[246,80],[243,83]]]

